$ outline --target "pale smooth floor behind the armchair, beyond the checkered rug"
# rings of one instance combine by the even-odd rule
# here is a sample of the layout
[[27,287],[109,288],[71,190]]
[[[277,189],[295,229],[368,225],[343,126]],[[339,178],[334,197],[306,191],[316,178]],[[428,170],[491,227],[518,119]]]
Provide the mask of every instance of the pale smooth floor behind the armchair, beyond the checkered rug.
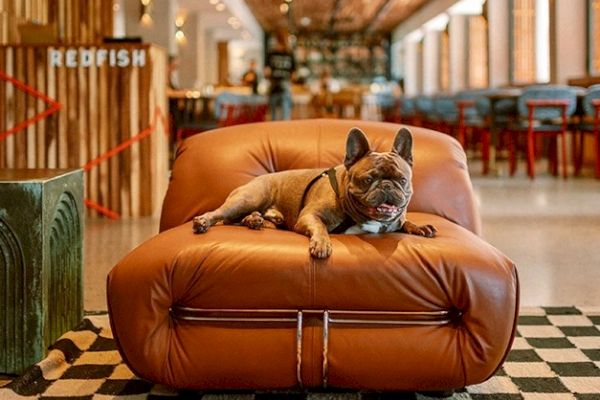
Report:
[[[522,306],[600,306],[600,181],[474,172],[473,186],[484,238],[517,264]],[[86,311],[106,310],[106,274],[157,231],[153,218],[86,221]]]

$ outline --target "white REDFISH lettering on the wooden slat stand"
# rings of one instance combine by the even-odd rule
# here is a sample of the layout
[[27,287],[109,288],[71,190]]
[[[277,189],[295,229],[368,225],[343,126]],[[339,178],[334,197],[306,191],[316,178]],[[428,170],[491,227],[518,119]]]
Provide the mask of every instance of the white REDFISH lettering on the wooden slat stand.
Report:
[[50,67],[89,68],[101,67],[143,67],[146,65],[146,49],[50,49]]

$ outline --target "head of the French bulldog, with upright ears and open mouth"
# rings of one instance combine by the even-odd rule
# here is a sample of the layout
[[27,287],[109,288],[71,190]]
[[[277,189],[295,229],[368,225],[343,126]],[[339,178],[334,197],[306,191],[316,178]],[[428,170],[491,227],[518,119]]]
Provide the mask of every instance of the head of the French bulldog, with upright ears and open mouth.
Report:
[[[391,151],[371,150],[365,134],[353,128],[348,134],[344,165],[348,171],[347,199],[359,222],[365,217],[382,223],[404,216],[412,195],[412,136],[400,129]],[[352,215],[356,212],[362,215]]]

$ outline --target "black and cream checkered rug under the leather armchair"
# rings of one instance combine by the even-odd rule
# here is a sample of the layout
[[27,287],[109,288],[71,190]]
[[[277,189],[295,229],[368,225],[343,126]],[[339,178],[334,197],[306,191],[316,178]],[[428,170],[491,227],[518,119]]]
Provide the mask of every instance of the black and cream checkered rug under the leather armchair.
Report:
[[[5,381],[0,399],[367,400],[428,399],[414,393],[178,392],[138,379],[116,350],[108,317],[89,316],[23,376]],[[3,386],[0,381],[0,387]],[[600,308],[521,310],[518,335],[496,376],[453,399],[600,400]]]

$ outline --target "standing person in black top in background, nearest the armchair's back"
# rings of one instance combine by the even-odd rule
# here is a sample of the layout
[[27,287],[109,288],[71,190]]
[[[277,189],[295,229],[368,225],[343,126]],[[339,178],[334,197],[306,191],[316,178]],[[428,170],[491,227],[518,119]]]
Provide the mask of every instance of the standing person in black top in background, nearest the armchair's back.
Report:
[[[292,78],[296,69],[294,55],[288,47],[287,31],[277,31],[275,48],[267,54],[265,77],[269,79],[271,119],[288,120],[292,114]],[[281,110],[281,113],[278,111]],[[279,114],[281,117],[279,118]]]

